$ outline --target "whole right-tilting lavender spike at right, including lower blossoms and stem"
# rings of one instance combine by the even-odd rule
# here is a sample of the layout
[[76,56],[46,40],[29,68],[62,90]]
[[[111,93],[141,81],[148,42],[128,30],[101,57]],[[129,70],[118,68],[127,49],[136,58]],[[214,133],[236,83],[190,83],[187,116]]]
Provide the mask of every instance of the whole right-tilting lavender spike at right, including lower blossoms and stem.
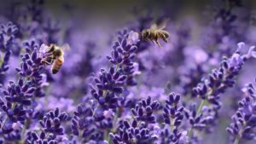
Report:
[[[255,52],[253,51],[254,46],[248,50],[246,55],[241,55],[241,49],[244,49],[244,47],[244,43],[238,43],[236,53],[229,59],[224,57],[219,68],[212,70],[209,79],[205,79],[203,83],[198,84],[193,89],[193,95],[201,97],[202,101],[197,111],[195,110],[195,106],[192,106],[189,112],[186,112],[186,118],[189,119],[189,123],[191,124],[189,138],[192,136],[193,129],[202,130],[215,124],[214,120],[218,118],[218,110],[221,107],[219,95],[223,94],[226,89],[234,87],[234,78],[241,71],[244,62],[250,57],[255,57]],[[213,106],[203,109],[206,102]],[[209,131],[209,129],[206,130]]]

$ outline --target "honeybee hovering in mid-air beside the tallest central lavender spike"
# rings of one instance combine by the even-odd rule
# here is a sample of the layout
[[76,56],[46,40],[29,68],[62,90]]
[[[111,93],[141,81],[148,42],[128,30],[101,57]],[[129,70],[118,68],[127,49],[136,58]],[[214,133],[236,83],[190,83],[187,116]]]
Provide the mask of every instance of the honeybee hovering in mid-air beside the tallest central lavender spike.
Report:
[[167,20],[164,20],[159,26],[153,24],[152,26],[150,26],[150,28],[143,30],[143,40],[150,39],[152,43],[155,42],[160,48],[162,48],[157,40],[158,38],[162,38],[166,43],[168,43],[167,38],[170,36],[169,32],[163,30],[166,27],[166,22]]

